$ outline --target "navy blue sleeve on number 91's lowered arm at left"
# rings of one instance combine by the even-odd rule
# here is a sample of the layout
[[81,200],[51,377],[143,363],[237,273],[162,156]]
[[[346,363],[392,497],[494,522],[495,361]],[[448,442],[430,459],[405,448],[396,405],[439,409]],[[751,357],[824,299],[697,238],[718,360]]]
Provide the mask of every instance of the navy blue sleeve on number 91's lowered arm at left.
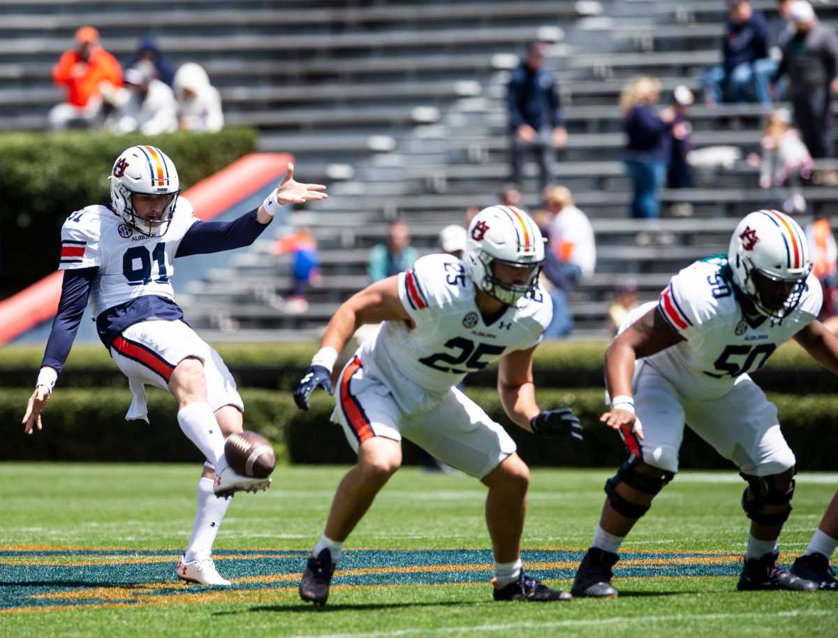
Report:
[[73,347],[75,334],[79,331],[81,315],[85,313],[87,307],[91,283],[98,271],[98,267],[65,270],[58,314],[55,315],[53,327],[49,331],[44,360],[41,361],[42,367],[55,368],[59,374],[64,370],[64,362],[70,354],[70,348]]

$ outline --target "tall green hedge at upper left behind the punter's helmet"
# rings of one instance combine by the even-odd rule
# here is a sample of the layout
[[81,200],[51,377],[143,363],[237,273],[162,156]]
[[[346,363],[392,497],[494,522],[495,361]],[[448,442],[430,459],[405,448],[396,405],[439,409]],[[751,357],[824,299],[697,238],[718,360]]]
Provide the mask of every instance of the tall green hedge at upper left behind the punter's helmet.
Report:
[[134,144],[162,148],[178,167],[182,189],[256,149],[256,129],[173,132],[152,137],[103,132],[0,134],[0,276],[23,288],[53,271],[59,231],[82,206],[111,200],[107,176],[116,157]]

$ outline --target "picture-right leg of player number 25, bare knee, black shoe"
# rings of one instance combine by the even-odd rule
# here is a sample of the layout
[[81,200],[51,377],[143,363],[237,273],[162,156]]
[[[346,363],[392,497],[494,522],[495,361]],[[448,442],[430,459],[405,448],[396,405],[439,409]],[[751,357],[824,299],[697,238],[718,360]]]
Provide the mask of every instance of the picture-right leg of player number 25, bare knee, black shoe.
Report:
[[406,418],[402,431],[443,463],[480,479],[489,488],[486,524],[494,554],[495,600],[566,600],[570,595],[525,574],[520,559],[530,470],[515,442],[475,402],[452,388],[428,412]]

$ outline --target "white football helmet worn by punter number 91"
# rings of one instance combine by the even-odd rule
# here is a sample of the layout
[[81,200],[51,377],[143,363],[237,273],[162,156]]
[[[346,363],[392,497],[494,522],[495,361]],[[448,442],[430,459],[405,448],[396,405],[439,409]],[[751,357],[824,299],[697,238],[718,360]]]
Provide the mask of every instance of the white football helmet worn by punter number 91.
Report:
[[[116,215],[143,235],[165,235],[180,193],[178,169],[166,153],[146,145],[127,148],[116,158],[108,179],[111,180],[111,205]],[[158,217],[145,220],[134,212],[134,193],[168,195],[168,199]]]

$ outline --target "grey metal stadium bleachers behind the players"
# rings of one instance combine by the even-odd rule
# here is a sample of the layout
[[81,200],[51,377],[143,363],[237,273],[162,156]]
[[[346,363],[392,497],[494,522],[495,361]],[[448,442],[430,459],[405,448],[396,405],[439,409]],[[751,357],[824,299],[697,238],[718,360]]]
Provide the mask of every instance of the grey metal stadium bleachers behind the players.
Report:
[[[776,3],[754,4],[775,15]],[[835,5],[817,9],[838,19]],[[442,226],[463,220],[469,205],[494,202],[508,175],[504,83],[535,37],[552,43],[547,61],[566,103],[570,138],[556,154],[555,181],[572,189],[597,235],[597,274],[572,295],[577,335],[607,334],[605,309],[626,277],[641,298],[654,298],[667,273],[725,250],[738,215],[783,198],[758,189],[756,169],[741,160],[696,173],[696,188],[663,191],[651,228],[628,219],[619,91],[648,74],[660,78],[662,101],[679,84],[700,101],[701,73],[720,60],[726,13],[716,0],[35,0],[0,2],[0,18],[0,130],[46,127],[61,96],[50,69],[80,24],[94,24],[121,59],[153,31],[177,63],[204,65],[227,122],[259,127],[261,150],[294,153],[300,176],[329,184],[327,201],[293,211],[276,231],[305,225],[318,238],[323,283],[308,311],[282,303],[289,257],[272,255],[266,238],[185,291],[190,322],[211,340],[314,335],[365,284],[367,251],[385,237],[387,220],[406,219],[414,245],[431,252]],[[696,104],[693,141],[733,146],[744,158],[758,150],[765,112]],[[535,165],[524,174],[531,207]],[[803,192],[810,213],[838,201],[835,187]],[[685,204],[691,216],[675,217]],[[652,245],[638,241],[645,231]]]

